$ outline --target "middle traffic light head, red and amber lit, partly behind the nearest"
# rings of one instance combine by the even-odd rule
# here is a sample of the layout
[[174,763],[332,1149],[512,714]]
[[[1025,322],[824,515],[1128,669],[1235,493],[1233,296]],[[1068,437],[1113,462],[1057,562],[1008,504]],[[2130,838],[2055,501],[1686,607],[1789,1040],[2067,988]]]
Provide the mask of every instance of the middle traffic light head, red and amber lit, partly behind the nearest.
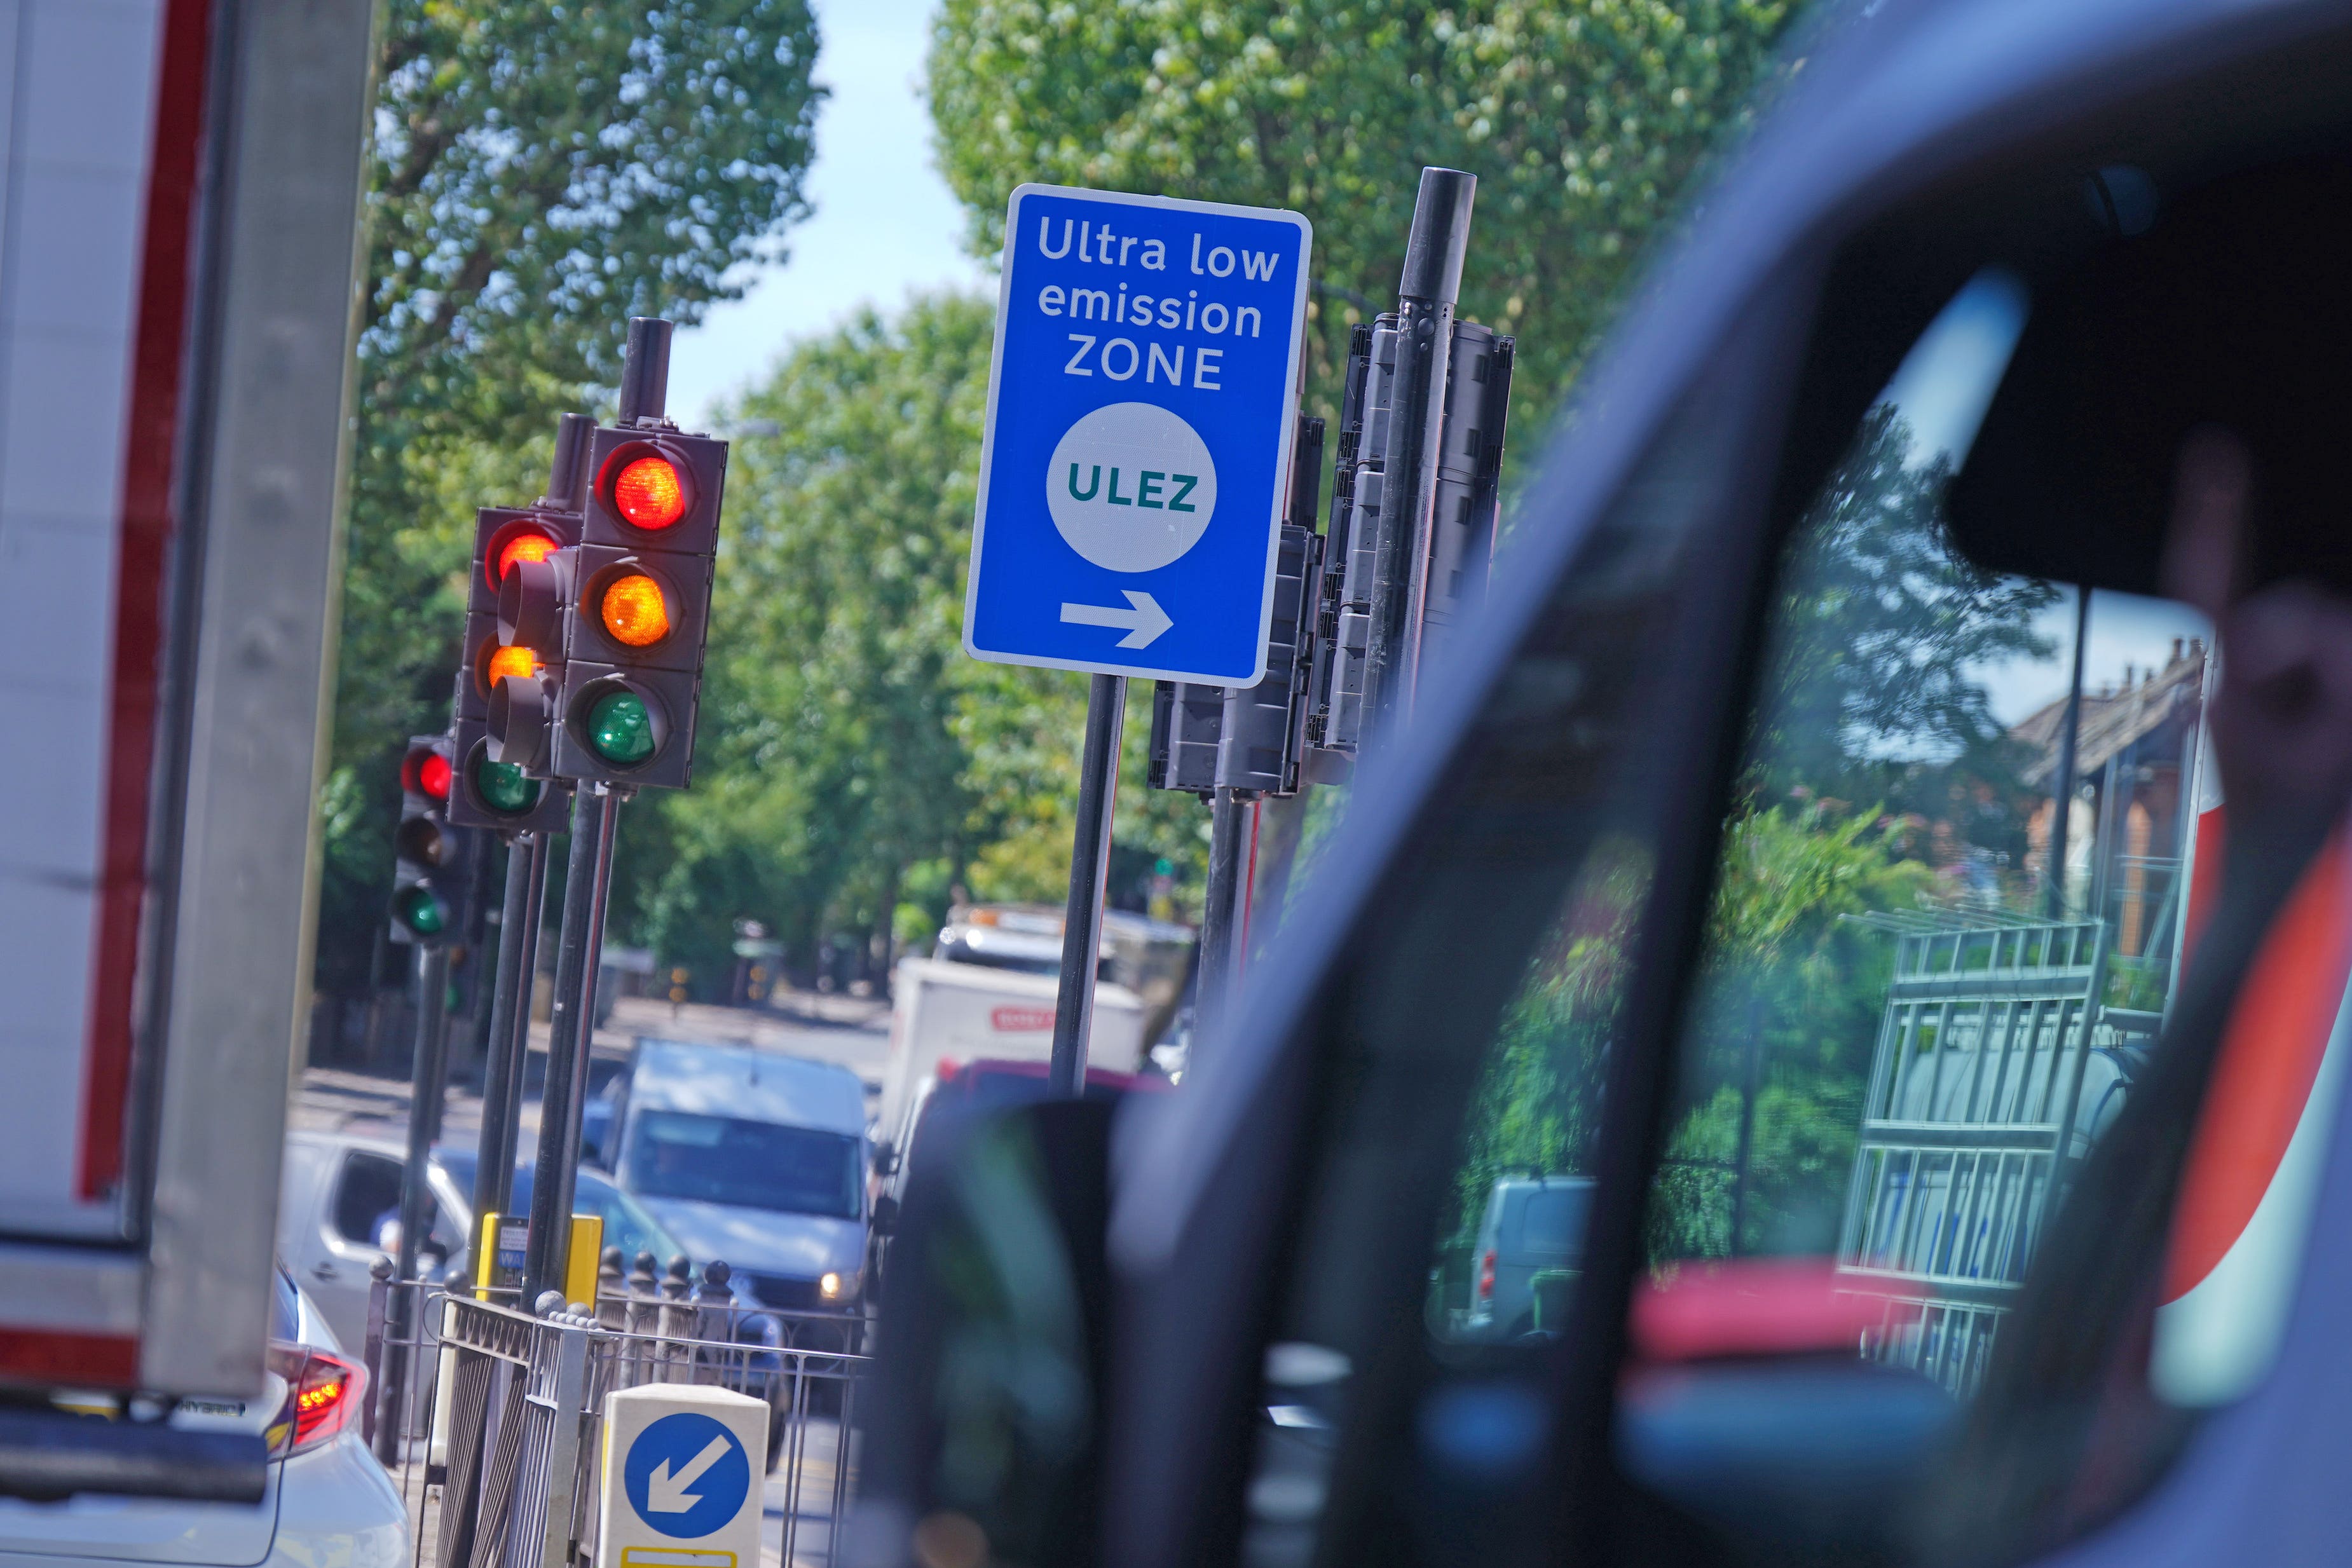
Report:
[[562,679],[562,607],[550,590],[550,616],[527,628],[534,635],[513,637],[499,618],[499,604],[522,576],[548,578],[560,571],[564,552],[579,545],[579,512],[548,503],[485,505],[475,512],[466,658],[456,672],[456,785],[449,797],[449,820],[456,825],[562,832],[569,818],[567,792],[546,780],[546,724],[515,726],[506,719],[515,708],[508,682],[524,693],[524,710],[543,710],[555,701],[553,686]]

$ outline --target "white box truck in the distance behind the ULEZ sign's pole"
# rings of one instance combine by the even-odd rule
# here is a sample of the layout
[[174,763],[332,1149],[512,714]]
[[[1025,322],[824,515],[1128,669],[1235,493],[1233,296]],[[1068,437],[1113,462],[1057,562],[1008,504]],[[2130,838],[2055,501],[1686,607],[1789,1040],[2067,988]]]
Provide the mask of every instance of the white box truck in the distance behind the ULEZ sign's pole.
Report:
[[[882,1114],[875,1147],[887,1161],[906,1152],[938,1063],[1042,1063],[1054,1056],[1056,976],[985,969],[943,959],[901,959],[896,1009],[889,1025],[889,1065],[882,1070]],[[1089,1067],[1136,1072],[1143,1063],[1143,999],[1124,985],[1094,987]]]

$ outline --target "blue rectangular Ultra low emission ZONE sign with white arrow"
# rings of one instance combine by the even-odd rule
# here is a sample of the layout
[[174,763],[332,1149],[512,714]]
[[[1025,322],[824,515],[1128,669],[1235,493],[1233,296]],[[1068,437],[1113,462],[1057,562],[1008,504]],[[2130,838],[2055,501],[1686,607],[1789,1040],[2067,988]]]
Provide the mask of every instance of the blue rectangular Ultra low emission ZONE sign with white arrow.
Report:
[[1011,197],[964,649],[1265,672],[1312,230],[1296,212]]

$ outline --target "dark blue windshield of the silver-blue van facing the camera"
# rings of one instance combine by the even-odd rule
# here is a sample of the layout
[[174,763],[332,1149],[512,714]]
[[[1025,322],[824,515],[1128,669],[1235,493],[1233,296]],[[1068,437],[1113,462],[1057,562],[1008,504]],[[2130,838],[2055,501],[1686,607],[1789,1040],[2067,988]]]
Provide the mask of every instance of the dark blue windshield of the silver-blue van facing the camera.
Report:
[[628,1143],[637,1197],[858,1218],[858,1140],[807,1126],[649,1110]]

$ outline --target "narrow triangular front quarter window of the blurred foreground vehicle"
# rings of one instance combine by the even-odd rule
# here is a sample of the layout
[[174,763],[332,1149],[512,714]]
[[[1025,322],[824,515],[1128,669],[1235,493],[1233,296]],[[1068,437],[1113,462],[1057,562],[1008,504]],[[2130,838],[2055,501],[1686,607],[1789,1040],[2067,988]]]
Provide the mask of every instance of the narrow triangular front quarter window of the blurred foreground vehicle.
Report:
[[[1472,1321],[1479,1251],[1510,1215],[1505,1182],[1590,1175],[1672,795],[1658,769],[1679,677],[1644,649],[1684,625],[1691,543],[1748,505],[1750,393],[1783,327],[1759,310],[1733,334],[1592,517],[1482,698],[1418,870],[1352,938],[1317,1025],[1338,1091],[1279,1255],[1244,1561],[1359,1561],[1456,1526],[1470,1535],[1449,1547],[1472,1552],[1505,1509],[1432,1512],[1421,1481],[1463,1465],[1526,1479],[1545,1443],[1536,1363],[1496,1378],[1482,1356],[1512,1349],[1512,1328],[1557,1335],[1573,1262],[1496,1258],[1531,1321]],[[1543,550],[1505,543],[1498,571],[1512,548]]]

